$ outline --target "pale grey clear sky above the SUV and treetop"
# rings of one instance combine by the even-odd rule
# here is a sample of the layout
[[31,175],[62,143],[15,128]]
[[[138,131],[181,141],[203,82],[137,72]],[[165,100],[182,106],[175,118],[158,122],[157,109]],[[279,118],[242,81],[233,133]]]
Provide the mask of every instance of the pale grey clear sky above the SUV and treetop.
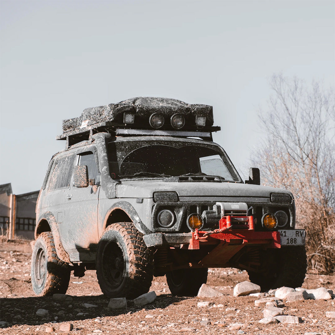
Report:
[[273,73],[335,82],[334,1],[1,0],[1,175],[40,189],[62,120],[134,96],[213,106],[246,177]]

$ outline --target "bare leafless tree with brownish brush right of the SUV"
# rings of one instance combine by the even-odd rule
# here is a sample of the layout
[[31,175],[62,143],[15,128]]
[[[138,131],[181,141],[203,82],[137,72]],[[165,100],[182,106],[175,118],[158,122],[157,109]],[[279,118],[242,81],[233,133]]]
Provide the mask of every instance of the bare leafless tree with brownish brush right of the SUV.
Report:
[[[290,190],[297,226],[308,232],[309,265],[335,270],[335,99],[318,82],[274,75],[260,121],[266,141],[253,153],[265,184]],[[256,166],[257,166],[256,165]]]

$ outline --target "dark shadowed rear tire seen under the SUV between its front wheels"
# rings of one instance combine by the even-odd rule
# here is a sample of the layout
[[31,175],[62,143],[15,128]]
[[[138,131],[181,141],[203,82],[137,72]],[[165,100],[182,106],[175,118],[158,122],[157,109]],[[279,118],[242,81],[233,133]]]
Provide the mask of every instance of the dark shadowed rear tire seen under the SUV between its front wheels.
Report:
[[179,269],[166,273],[167,285],[173,295],[196,296],[207,282],[208,269]]

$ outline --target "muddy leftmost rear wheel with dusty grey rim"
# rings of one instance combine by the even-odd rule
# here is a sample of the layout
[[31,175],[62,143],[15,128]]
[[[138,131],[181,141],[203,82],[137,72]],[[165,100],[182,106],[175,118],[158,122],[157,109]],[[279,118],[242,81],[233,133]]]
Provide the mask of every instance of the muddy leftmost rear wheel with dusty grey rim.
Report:
[[35,294],[65,294],[70,273],[69,265],[57,256],[52,232],[42,232],[35,242],[31,256],[31,284]]

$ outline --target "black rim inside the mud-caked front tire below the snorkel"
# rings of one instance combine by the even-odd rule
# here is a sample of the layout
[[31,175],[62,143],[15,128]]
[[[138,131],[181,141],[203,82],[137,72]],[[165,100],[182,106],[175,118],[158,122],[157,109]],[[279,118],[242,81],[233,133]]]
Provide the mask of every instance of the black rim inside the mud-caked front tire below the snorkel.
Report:
[[126,262],[121,246],[115,242],[109,242],[104,248],[102,257],[103,275],[105,280],[113,288],[121,285],[125,273]]

